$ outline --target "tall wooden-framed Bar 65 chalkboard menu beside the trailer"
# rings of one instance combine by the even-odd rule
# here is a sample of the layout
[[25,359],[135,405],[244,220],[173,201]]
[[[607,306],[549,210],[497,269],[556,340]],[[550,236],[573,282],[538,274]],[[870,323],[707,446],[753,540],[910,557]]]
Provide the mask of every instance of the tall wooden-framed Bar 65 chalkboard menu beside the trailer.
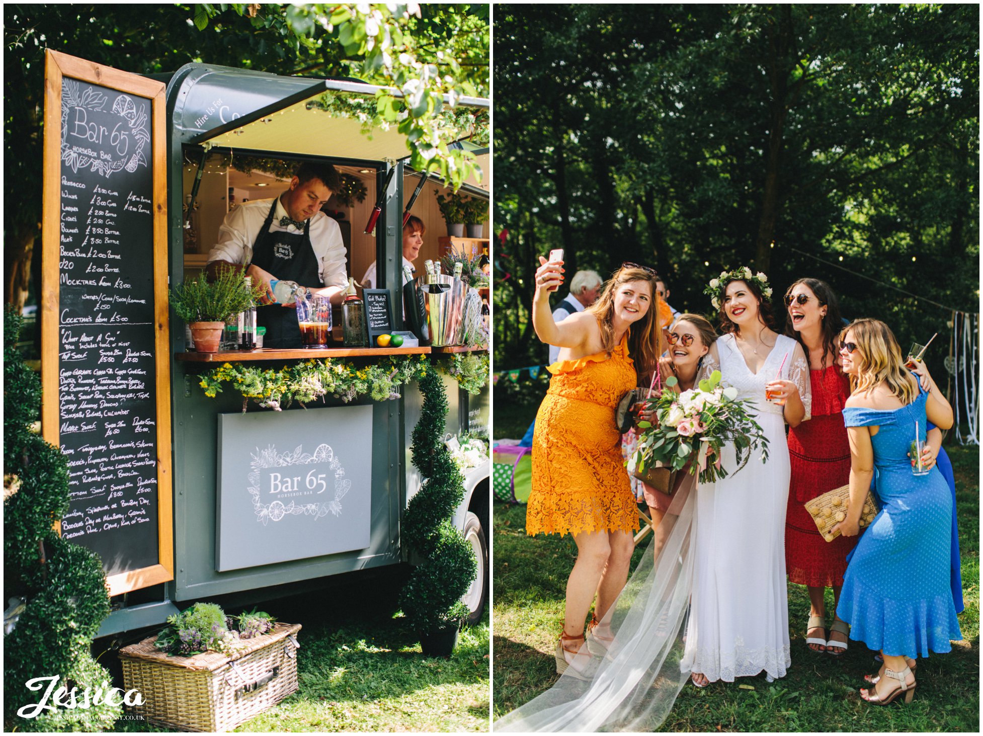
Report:
[[174,579],[164,85],[50,50],[44,82],[41,427],[116,595]]

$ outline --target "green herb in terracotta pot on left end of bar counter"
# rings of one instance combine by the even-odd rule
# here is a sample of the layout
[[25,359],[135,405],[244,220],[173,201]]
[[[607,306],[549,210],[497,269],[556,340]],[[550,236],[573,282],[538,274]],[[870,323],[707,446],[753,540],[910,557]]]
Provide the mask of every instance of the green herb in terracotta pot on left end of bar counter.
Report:
[[256,304],[260,289],[246,285],[242,273],[227,268],[214,281],[200,273],[171,290],[170,304],[191,327],[195,350],[218,352],[225,320]]

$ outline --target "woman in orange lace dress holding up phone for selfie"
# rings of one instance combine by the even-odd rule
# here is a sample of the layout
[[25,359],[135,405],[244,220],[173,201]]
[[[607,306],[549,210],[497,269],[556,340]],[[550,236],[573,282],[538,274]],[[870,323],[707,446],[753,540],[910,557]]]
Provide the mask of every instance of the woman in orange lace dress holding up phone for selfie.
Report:
[[655,318],[653,271],[622,266],[592,307],[557,323],[549,311],[549,287],[562,281],[561,263],[540,261],[533,325],[543,342],[560,351],[549,366],[549,392],[536,416],[526,532],[569,533],[577,544],[566,585],[563,635],[555,651],[556,671],[569,668],[576,677],[586,675],[590,665],[590,654],[581,647],[595,594],[591,644],[603,647],[609,639],[596,622],[624,587],[632,533],[638,529],[614,412],[624,393],[635,387],[636,369],[651,372],[664,346]]

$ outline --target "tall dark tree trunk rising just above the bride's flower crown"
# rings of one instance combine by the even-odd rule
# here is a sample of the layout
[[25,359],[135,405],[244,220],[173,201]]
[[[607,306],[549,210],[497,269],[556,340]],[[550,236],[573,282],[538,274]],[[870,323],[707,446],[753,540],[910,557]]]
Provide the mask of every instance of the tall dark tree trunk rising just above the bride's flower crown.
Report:
[[791,8],[782,5],[778,28],[769,28],[768,78],[772,97],[768,115],[768,161],[762,193],[761,217],[755,238],[755,268],[768,272],[771,267],[772,241],[781,210],[782,132],[785,124],[788,93],[788,56],[792,41]]

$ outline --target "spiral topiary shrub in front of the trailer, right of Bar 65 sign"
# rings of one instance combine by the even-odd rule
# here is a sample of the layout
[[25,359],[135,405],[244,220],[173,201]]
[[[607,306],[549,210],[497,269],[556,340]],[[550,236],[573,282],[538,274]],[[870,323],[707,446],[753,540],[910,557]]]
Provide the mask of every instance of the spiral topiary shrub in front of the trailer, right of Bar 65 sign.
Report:
[[403,540],[424,557],[406,583],[401,605],[423,634],[457,628],[468,616],[461,596],[478,577],[474,550],[451,518],[464,497],[464,478],[443,443],[447,396],[433,369],[419,377],[424,404],[413,428],[413,465],[424,481],[403,516]]

